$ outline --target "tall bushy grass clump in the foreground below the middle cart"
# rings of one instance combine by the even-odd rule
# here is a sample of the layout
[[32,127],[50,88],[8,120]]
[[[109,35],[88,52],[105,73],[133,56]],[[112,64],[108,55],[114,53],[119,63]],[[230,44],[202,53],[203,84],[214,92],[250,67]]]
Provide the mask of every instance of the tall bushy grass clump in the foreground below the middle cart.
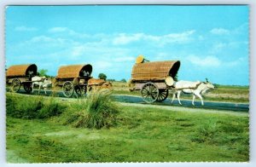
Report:
[[119,107],[112,101],[110,92],[98,90],[90,93],[73,105],[76,110],[67,122],[73,122],[74,127],[109,128],[117,123]]

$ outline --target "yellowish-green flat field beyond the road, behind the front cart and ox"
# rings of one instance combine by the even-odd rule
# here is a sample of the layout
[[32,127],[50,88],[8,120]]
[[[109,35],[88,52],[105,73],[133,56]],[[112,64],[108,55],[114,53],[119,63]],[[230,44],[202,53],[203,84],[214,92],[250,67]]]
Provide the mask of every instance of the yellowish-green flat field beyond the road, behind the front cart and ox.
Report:
[[[127,83],[113,82],[113,94],[117,95],[139,95],[140,91],[129,91]],[[169,95],[172,99],[172,95]],[[248,86],[231,86],[217,85],[215,89],[203,96],[206,101],[222,101],[222,102],[249,102],[249,87]],[[192,100],[192,95],[182,94],[181,99]],[[197,98],[197,100],[199,100]]]

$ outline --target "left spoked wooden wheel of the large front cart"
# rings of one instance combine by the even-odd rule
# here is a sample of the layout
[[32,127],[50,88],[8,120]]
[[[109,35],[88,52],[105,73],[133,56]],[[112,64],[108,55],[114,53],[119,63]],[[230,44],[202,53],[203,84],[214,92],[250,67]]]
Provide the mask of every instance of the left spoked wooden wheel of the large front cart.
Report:
[[145,83],[141,89],[141,94],[143,96],[143,101],[153,103],[158,98],[159,89],[154,83]]

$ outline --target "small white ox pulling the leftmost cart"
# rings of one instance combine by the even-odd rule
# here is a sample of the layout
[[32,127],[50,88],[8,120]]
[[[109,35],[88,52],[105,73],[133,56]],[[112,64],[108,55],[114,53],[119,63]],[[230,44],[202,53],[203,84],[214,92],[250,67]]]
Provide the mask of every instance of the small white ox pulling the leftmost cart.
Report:
[[38,89],[38,94],[40,93],[40,89],[41,87],[44,88],[44,93],[46,95],[46,89],[51,85],[51,80],[45,77],[39,77],[39,76],[35,76],[32,77],[32,93],[34,92],[34,85],[38,85],[39,89]]

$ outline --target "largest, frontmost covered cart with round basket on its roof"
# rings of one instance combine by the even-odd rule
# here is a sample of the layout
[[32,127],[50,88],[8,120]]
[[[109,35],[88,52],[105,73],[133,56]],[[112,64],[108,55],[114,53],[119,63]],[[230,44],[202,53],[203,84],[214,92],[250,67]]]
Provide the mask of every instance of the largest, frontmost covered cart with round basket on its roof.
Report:
[[165,101],[168,89],[173,89],[179,66],[179,60],[145,62],[138,57],[132,67],[130,90],[140,90],[147,103]]

